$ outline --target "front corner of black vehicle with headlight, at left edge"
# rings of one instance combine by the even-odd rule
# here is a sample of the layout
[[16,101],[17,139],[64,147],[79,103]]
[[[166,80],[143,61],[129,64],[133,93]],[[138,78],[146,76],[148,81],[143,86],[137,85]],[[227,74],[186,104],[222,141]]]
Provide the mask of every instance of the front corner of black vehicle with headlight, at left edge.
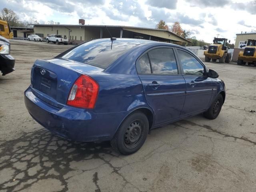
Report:
[[10,55],[10,41],[0,36],[0,71],[6,75],[15,70],[15,59]]

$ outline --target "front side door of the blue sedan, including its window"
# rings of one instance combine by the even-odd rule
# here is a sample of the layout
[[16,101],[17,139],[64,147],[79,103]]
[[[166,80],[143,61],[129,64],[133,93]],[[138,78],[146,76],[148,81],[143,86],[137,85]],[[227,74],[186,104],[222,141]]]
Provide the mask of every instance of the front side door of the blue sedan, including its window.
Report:
[[206,67],[191,52],[176,48],[181,72],[186,81],[186,100],[182,116],[204,111],[212,98],[213,82]]

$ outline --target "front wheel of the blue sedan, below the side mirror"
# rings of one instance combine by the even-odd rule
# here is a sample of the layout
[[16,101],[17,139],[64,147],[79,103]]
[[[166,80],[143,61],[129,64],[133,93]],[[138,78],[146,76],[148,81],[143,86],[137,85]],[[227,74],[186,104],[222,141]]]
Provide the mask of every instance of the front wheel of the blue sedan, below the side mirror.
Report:
[[204,117],[208,119],[216,119],[220,114],[220,110],[223,105],[223,97],[221,94],[218,94],[217,98],[212,102],[210,108],[204,112]]

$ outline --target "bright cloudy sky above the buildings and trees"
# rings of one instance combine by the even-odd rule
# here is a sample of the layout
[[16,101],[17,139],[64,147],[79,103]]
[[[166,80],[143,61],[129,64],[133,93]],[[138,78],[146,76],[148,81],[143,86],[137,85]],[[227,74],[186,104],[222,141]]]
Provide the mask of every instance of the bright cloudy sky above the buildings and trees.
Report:
[[234,43],[236,34],[256,32],[256,0],[0,0],[21,20],[40,24],[121,25],[156,28],[162,19],[171,27],[176,21],[198,40],[212,42],[219,34]]

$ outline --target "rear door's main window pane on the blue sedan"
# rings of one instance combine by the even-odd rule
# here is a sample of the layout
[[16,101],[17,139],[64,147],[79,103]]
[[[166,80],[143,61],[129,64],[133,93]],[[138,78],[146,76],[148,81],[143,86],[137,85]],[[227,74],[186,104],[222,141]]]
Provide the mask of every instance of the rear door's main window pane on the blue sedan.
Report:
[[157,48],[148,52],[153,74],[178,74],[177,63],[172,48]]

